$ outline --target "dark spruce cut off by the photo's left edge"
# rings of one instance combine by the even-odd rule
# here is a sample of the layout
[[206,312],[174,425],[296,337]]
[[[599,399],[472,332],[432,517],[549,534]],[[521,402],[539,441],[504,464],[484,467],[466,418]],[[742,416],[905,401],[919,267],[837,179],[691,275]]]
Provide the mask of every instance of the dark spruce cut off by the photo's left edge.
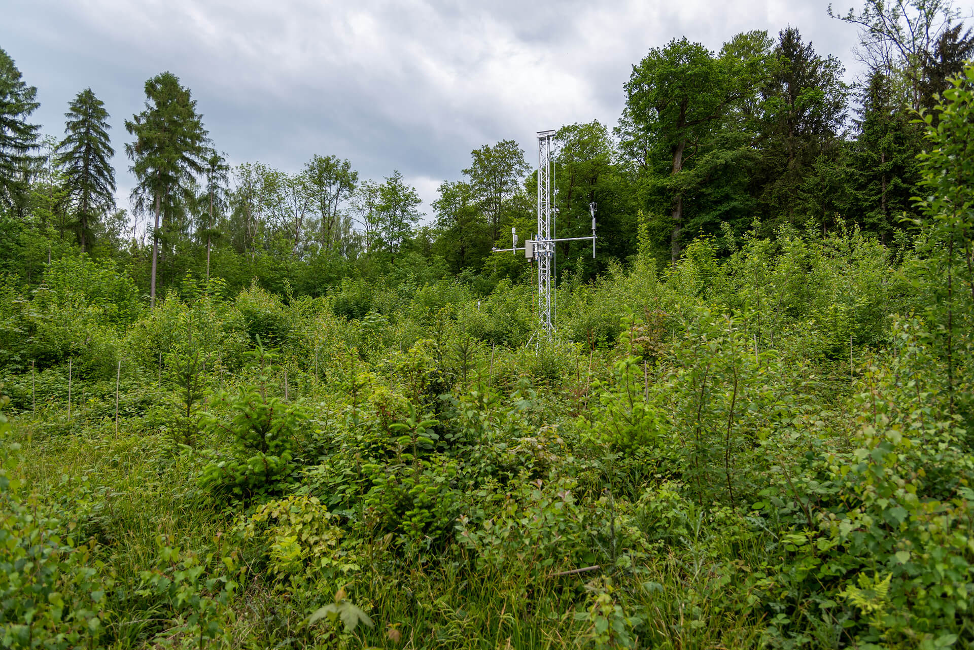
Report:
[[26,194],[25,168],[35,161],[38,125],[27,118],[40,102],[37,89],[20,79],[14,59],[0,49],[0,204],[22,204]]

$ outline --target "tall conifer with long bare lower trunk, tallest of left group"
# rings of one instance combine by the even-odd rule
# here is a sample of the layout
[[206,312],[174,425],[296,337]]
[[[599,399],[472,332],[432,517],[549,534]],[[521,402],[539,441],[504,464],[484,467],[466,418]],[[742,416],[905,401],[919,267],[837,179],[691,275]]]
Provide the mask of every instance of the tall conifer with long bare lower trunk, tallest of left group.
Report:
[[126,144],[131,172],[138,184],[131,192],[137,210],[155,213],[149,301],[156,306],[156,270],[163,209],[191,197],[196,174],[206,168],[206,128],[196,100],[171,72],[145,82],[145,110],[125,123],[135,141]]

